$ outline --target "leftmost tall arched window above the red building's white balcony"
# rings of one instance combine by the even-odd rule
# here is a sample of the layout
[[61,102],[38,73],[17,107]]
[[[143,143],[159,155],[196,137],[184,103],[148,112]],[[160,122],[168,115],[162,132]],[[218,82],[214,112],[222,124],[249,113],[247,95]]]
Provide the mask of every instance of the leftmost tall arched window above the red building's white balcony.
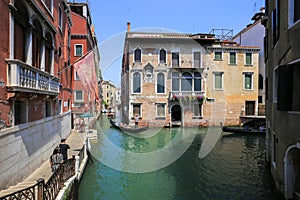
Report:
[[28,13],[22,1],[15,2],[14,14],[14,58],[26,62],[26,29],[29,27]]

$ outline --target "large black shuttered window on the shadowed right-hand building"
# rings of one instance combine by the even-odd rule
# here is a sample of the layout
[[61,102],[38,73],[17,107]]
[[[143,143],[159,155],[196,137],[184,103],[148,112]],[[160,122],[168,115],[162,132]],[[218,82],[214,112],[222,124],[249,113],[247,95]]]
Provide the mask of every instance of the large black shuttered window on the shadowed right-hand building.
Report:
[[277,109],[300,111],[300,62],[277,69]]

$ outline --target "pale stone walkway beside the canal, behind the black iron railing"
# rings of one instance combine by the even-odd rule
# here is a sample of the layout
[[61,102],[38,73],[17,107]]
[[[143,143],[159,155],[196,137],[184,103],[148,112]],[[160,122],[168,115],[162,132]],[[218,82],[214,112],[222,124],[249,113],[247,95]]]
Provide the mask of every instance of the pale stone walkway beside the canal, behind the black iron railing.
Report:
[[[70,149],[68,151],[68,158],[72,158],[73,155],[77,156],[79,151],[82,149],[84,142],[86,141],[86,133],[80,133],[77,130],[72,130],[71,134],[66,140],[66,143],[70,145]],[[49,155],[50,157],[50,155]],[[49,180],[52,172],[50,168],[49,160],[45,161],[41,166],[36,169],[31,175],[25,178],[22,182],[18,183],[15,186],[11,186],[6,190],[0,191],[0,197],[11,194],[18,190],[22,190],[26,187],[30,187],[36,184],[36,181],[40,178],[43,178],[45,182]]]

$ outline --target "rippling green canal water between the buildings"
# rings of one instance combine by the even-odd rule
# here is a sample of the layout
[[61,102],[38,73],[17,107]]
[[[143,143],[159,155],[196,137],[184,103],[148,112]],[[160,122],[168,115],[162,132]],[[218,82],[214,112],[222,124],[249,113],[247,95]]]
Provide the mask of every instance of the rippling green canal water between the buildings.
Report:
[[80,200],[279,199],[265,163],[263,135],[220,135],[201,157],[206,137],[218,128],[130,135],[111,128],[103,117],[96,129]]

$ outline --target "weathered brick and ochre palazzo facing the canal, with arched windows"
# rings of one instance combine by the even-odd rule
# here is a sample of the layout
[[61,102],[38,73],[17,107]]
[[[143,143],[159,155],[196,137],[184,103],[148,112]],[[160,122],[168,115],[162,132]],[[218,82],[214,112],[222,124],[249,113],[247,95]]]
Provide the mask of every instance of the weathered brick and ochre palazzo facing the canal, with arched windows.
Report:
[[239,124],[258,112],[258,47],[212,34],[128,32],[122,116],[141,125]]

